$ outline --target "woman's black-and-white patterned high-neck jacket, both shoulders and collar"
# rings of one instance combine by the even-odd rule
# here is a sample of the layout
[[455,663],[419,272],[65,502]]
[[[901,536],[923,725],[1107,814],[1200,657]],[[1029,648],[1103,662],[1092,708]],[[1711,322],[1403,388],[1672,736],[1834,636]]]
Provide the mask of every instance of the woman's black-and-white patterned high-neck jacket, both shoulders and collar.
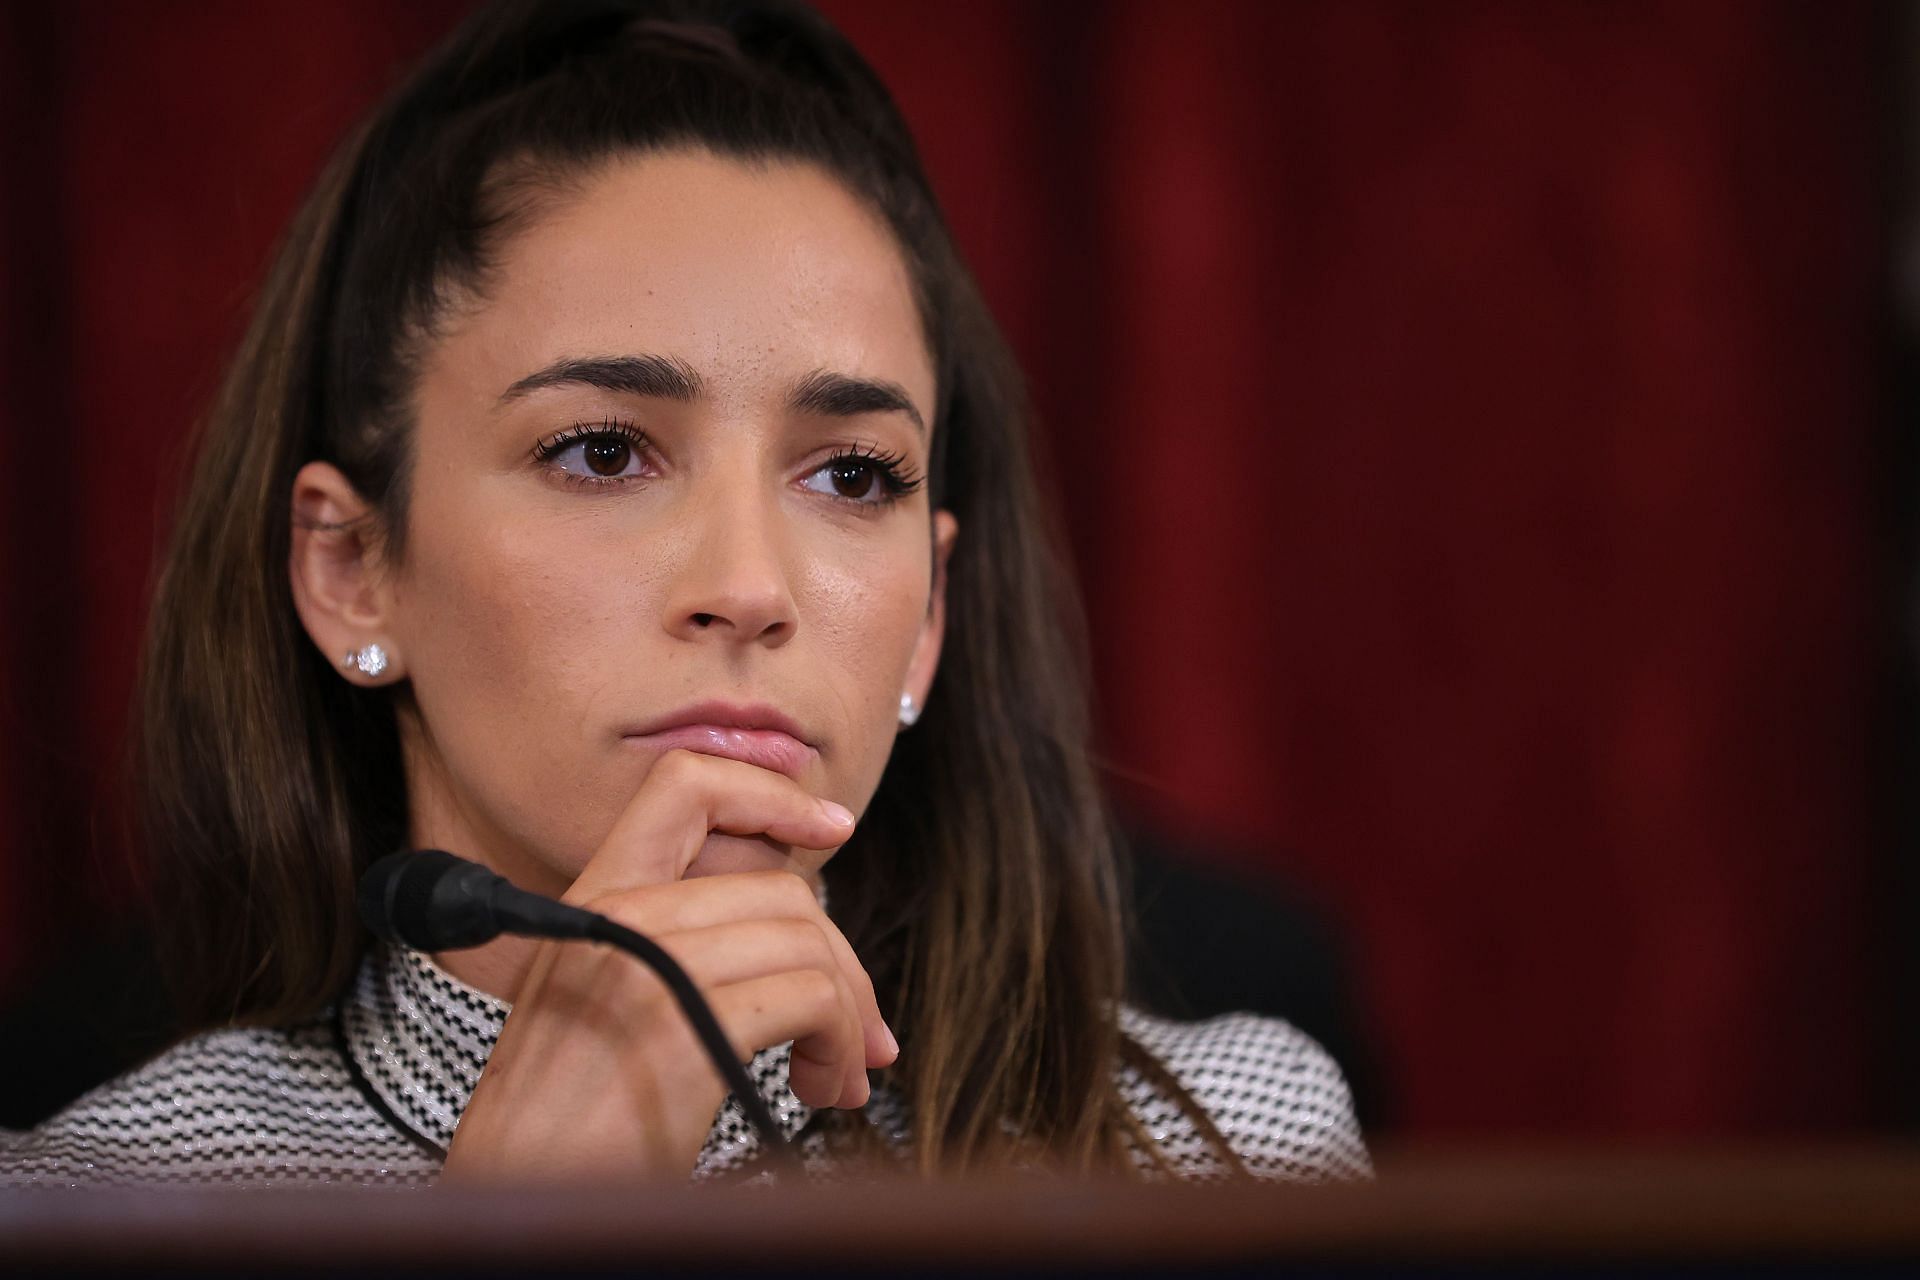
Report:
[[[428,1186],[509,1006],[413,952],[374,950],[340,1007],[288,1029],[194,1036],[86,1094],[25,1134],[0,1134],[0,1186]],[[1173,1023],[1125,1009],[1121,1029],[1158,1057],[1261,1178],[1369,1174],[1338,1067],[1283,1021],[1233,1013]],[[812,1109],[787,1088],[787,1054],[749,1075],[806,1167],[831,1174]],[[1117,1080],[1165,1165],[1183,1178],[1229,1171],[1173,1098],[1133,1067]],[[908,1113],[876,1090],[862,1113],[891,1144]],[[758,1136],[728,1098],[693,1169],[747,1165]],[[1137,1153],[1142,1167],[1152,1157]]]

